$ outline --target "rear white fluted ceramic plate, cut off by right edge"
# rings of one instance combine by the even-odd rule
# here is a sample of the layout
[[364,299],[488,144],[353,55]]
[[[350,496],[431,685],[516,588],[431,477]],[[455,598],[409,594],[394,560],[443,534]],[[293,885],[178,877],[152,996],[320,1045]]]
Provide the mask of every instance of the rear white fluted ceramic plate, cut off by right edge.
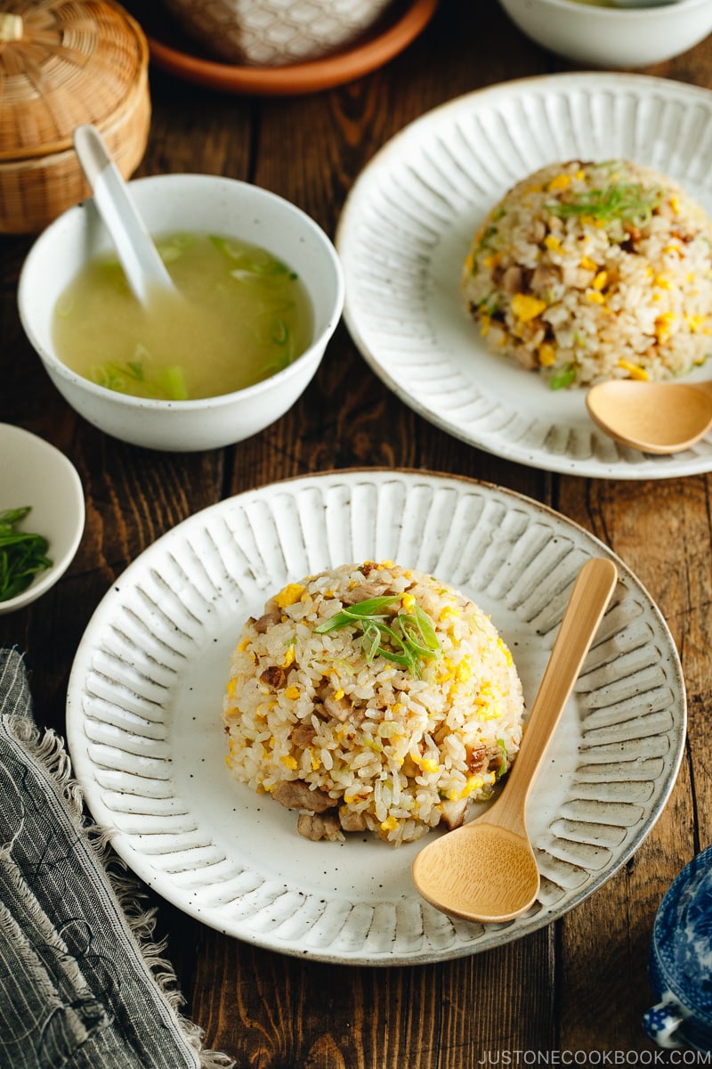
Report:
[[[410,407],[472,446],[570,475],[656,479],[712,468],[712,435],[675,456],[617,446],[584,390],[550,390],[487,352],[460,274],[487,212],[555,160],[623,157],[678,180],[712,214],[712,93],[633,74],[560,74],[479,90],[394,137],[336,234],[347,326]],[[710,368],[687,376],[709,377]]]

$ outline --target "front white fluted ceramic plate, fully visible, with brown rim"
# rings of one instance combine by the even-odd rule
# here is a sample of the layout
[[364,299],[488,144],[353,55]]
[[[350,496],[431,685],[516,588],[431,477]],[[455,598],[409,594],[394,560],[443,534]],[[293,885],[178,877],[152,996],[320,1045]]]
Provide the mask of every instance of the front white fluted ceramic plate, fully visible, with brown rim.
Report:
[[[393,559],[459,587],[508,642],[528,706],[592,536],[528,498],[423,472],[331,472],[222,501],[116,580],[72,670],[74,769],[112,845],[211,927],[285,954],[398,964],[454,958],[561,916],[623,864],[673,787],[685,731],[675,645],[649,595],[620,583],[529,803],[542,888],[523,917],[454,920],[415,893],[421,840],[310,842],[295,814],[233,780],[221,722],[250,615],[289,580]],[[438,833],[430,833],[438,834]]]

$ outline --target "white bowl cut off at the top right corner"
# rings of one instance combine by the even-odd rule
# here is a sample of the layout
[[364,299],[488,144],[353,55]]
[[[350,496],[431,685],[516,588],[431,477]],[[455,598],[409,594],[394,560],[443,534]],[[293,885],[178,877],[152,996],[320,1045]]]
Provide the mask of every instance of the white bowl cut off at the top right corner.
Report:
[[500,0],[537,44],[577,63],[640,67],[662,63],[712,32],[710,0],[654,7],[598,7],[576,0]]

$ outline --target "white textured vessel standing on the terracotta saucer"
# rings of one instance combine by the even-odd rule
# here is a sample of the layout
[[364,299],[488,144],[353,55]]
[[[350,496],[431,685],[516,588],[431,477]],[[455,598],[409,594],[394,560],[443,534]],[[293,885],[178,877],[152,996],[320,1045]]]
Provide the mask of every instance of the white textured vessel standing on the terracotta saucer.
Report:
[[163,0],[183,29],[228,63],[284,66],[350,46],[394,0]]

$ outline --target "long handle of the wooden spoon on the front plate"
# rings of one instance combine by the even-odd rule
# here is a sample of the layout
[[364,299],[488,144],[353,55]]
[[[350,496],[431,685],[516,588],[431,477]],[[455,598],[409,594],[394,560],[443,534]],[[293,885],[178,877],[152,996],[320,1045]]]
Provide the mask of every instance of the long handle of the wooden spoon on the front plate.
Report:
[[[532,706],[509,779],[495,806],[497,822],[523,831],[524,810],[539,765],[616,588],[612,560],[596,557],[583,566],[571,591],[551,657]],[[491,809],[486,815],[491,819]]]

